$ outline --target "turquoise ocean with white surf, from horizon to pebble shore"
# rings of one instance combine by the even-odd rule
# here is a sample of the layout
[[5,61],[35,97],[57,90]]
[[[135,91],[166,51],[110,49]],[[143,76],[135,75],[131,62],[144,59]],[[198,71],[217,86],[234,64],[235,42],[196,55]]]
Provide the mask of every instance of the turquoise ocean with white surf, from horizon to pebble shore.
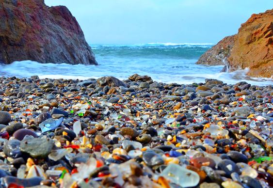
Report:
[[223,66],[195,62],[213,44],[150,43],[137,45],[92,45],[98,65],[38,63],[33,61],[0,64],[0,76],[88,79],[113,76],[127,79],[135,73],[158,82],[191,84],[215,78],[227,84],[246,81],[255,85],[273,84],[273,78],[250,78],[247,69],[221,73]]

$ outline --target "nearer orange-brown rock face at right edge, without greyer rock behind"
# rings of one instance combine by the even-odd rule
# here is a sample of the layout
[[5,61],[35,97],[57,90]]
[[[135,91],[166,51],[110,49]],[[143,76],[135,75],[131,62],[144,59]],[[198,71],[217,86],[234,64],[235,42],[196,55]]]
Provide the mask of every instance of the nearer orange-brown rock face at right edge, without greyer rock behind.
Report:
[[273,76],[273,9],[241,25],[227,60],[230,71],[249,67],[250,76]]

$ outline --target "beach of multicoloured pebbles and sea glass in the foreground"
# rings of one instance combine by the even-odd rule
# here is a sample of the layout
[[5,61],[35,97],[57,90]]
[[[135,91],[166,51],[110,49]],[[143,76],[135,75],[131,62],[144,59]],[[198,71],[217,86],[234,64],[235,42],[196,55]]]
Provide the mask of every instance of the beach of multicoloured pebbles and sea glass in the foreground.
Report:
[[0,78],[5,188],[271,188],[273,88]]

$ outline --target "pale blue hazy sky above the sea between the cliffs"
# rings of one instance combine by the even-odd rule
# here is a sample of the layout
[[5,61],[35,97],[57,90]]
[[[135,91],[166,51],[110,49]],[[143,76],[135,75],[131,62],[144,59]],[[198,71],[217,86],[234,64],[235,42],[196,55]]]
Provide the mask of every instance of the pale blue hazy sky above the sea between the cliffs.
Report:
[[45,0],[64,5],[89,44],[217,43],[273,0]]

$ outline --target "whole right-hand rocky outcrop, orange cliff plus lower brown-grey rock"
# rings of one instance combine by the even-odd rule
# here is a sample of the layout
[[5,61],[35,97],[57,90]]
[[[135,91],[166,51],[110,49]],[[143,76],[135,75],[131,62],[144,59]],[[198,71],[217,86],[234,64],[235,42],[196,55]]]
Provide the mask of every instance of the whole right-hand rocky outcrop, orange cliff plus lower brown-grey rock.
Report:
[[238,33],[230,37],[233,40],[230,40],[229,49],[223,48],[226,53],[219,50],[226,44],[227,38],[224,38],[202,55],[197,63],[215,65],[222,61],[224,71],[249,68],[249,76],[273,76],[273,9],[252,15],[241,24]]

